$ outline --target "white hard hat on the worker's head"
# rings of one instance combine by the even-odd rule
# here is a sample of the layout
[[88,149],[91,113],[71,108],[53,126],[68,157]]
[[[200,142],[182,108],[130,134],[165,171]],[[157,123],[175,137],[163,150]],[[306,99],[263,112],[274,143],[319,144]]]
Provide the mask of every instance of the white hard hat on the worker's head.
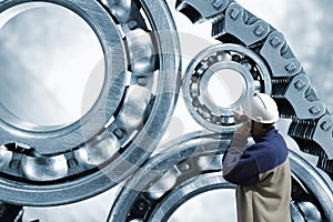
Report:
[[245,114],[260,123],[274,123],[279,120],[279,110],[275,101],[268,94],[256,93],[250,99]]

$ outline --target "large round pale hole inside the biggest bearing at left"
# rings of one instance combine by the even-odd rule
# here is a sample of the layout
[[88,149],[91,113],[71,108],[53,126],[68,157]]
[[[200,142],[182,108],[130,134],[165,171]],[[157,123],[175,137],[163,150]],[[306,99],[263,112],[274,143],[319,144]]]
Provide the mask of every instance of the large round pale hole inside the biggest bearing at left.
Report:
[[0,13],[0,118],[19,129],[69,125],[87,114],[102,91],[100,41],[64,7],[29,2]]

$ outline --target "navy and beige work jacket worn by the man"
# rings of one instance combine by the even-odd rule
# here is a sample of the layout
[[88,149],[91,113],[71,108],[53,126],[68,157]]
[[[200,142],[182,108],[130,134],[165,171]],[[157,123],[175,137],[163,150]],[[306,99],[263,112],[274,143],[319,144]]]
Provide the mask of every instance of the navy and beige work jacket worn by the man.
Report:
[[274,128],[254,135],[254,144],[234,134],[223,157],[223,175],[238,184],[239,222],[290,221],[291,173],[287,147]]

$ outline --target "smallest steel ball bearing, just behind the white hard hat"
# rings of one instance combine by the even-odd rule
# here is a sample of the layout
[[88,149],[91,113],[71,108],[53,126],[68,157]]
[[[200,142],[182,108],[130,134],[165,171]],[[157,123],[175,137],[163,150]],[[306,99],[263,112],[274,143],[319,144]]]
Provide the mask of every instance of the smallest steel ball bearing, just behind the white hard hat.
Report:
[[[223,101],[214,101],[212,84],[226,89]],[[228,87],[229,85],[229,87]],[[219,85],[218,85],[219,87]],[[203,127],[215,132],[235,129],[233,110],[255,92],[271,93],[271,78],[263,61],[251,50],[232,43],[205,49],[189,64],[182,85],[186,107]],[[215,92],[216,93],[216,92]]]

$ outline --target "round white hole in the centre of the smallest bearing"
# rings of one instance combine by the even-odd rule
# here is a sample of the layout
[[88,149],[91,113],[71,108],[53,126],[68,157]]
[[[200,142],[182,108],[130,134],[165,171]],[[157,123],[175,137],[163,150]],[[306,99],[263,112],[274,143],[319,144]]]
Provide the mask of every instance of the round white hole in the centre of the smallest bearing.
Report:
[[209,80],[208,93],[212,102],[221,108],[233,107],[245,93],[243,75],[233,69],[221,69]]

